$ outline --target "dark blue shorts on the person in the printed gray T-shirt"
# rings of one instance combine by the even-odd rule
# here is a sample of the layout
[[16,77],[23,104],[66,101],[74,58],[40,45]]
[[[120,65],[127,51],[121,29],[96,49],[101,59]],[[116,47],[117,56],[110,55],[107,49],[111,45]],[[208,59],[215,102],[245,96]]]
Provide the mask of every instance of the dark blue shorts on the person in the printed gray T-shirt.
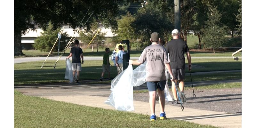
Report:
[[166,84],[166,80],[147,82],[148,91],[149,92],[156,91],[157,88],[163,91],[165,84]]

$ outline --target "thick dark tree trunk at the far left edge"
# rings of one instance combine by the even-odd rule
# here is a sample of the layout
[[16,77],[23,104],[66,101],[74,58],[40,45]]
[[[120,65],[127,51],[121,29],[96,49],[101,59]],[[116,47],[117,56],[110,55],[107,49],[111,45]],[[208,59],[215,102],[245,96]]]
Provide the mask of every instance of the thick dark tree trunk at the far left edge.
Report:
[[21,46],[21,32],[20,34],[14,33],[14,56],[24,56],[25,54],[22,53],[22,46]]

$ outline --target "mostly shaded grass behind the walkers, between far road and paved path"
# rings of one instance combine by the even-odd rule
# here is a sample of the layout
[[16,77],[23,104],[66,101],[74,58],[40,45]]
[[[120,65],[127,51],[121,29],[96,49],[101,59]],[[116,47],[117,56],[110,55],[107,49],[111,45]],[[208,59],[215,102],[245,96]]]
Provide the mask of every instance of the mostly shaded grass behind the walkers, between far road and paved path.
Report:
[[[223,70],[241,70],[242,61],[234,61],[228,59],[193,59],[192,72],[206,72],[206,71],[223,71]],[[22,84],[44,84],[53,82],[68,82],[64,79],[66,65],[65,61],[60,60],[56,68],[53,69],[56,61],[49,60],[41,66],[44,61],[24,62],[14,64],[14,85]],[[113,65],[113,62],[110,62]],[[137,66],[133,66],[135,69]],[[116,68],[110,67],[111,77],[117,76]],[[80,80],[99,79],[102,72],[102,60],[88,60],[82,64],[82,71],[80,72]],[[189,73],[186,69],[186,73]],[[24,77],[25,76],[25,77]],[[107,77],[107,74],[105,74]],[[229,73],[211,73],[204,75],[193,75],[193,81],[206,81],[206,80],[228,80],[228,79],[241,79],[241,72]],[[190,76],[186,75],[185,81],[190,81]],[[99,82],[102,83],[102,82]],[[104,82],[106,83],[106,82]],[[108,81],[107,83],[110,83]]]

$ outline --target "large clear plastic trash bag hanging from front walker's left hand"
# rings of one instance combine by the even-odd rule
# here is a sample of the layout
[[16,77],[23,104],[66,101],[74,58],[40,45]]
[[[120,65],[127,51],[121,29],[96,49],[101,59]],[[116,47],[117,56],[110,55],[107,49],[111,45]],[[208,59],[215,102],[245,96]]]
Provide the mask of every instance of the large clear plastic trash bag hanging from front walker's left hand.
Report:
[[132,65],[129,65],[111,81],[112,92],[104,103],[120,111],[134,111],[132,82]]

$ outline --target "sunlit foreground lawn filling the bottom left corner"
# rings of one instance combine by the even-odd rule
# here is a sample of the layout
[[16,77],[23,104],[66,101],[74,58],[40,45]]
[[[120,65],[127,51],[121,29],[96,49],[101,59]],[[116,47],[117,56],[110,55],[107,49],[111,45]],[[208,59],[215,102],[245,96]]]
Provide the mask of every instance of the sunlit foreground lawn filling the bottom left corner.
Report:
[[14,127],[82,128],[82,127],[173,127],[214,128],[173,119],[149,121],[148,115],[103,108],[87,107],[40,97],[14,90]]

